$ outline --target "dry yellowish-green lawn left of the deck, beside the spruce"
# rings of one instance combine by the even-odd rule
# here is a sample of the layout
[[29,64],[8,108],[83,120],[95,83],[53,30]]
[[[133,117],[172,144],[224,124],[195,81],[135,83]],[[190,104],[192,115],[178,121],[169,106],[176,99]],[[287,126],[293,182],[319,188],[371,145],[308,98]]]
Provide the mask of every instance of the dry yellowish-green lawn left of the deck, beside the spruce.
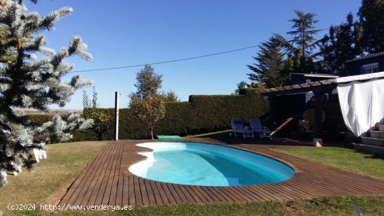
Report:
[[78,142],[48,145],[47,159],[19,176],[8,175],[0,187],[0,211],[8,215],[8,204],[57,203],[88,161],[105,142]]

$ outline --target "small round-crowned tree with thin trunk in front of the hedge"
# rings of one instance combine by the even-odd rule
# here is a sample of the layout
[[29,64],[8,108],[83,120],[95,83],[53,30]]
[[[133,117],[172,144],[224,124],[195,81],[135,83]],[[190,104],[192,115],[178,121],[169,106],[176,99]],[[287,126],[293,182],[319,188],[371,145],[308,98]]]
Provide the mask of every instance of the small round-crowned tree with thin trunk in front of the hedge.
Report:
[[139,100],[132,96],[129,107],[139,120],[148,127],[151,138],[154,139],[154,126],[165,116],[164,97],[155,94]]

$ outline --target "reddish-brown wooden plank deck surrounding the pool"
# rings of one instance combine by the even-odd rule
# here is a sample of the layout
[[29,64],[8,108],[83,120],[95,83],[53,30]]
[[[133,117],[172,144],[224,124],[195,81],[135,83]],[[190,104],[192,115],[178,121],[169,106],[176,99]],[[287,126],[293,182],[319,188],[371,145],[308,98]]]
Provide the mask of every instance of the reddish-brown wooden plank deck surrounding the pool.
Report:
[[[221,141],[189,139],[226,145]],[[156,182],[133,175],[128,167],[145,159],[135,152],[147,151],[136,143],[110,141],[84,172],[73,182],[59,205],[163,205],[173,203],[214,203],[285,201],[332,195],[383,195],[384,181],[348,173],[312,161],[274,152],[268,145],[231,145],[279,159],[295,169],[284,182],[241,187],[200,187]]]

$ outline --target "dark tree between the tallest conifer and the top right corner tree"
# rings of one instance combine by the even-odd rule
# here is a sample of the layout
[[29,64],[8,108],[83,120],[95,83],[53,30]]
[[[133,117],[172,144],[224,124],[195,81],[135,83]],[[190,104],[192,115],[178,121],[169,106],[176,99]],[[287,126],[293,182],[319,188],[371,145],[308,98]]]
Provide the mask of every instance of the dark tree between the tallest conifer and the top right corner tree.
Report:
[[320,43],[324,73],[346,75],[346,61],[362,55],[362,28],[348,13],[346,22],[331,26]]

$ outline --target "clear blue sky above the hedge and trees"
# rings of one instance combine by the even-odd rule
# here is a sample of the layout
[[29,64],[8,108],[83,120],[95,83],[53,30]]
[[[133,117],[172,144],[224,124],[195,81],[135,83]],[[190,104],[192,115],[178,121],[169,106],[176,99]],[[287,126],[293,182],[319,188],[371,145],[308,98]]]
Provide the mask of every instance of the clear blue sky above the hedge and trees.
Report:
[[[71,6],[73,14],[57,22],[56,30],[46,34],[48,47],[58,50],[73,35],[80,35],[94,55],[91,62],[73,57],[75,71],[171,59],[194,57],[214,52],[258,45],[272,33],[290,30],[293,10],[318,14],[317,27],[327,29],[354,15],[360,0],[337,1],[148,1],[148,0],[51,0],[29,10],[45,15],[51,10]],[[320,32],[318,38],[327,33]],[[183,100],[190,94],[230,94],[238,82],[247,80],[257,48],[226,55],[193,59],[154,66],[163,74],[163,90],[172,89]],[[127,95],[135,90],[135,73],[140,68],[81,73],[94,80],[101,107],[114,106],[114,92],[121,92],[121,106],[128,106]],[[68,80],[66,76],[64,80]],[[91,88],[87,91],[91,94]],[[57,106],[52,106],[57,108]],[[66,108],[82,108],[78,91]]]

